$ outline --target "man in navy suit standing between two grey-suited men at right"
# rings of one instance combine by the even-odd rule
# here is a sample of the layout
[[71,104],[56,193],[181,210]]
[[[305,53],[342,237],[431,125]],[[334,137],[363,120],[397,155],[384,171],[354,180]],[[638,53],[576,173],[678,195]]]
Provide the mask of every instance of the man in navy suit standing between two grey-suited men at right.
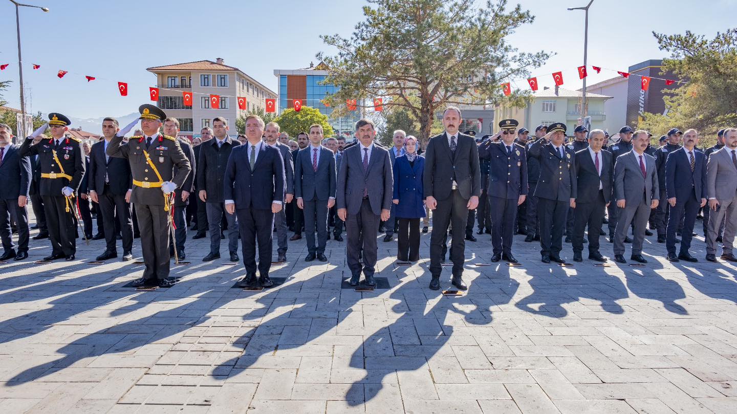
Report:
[[[683,133],[683,147],[668,154],[666,160],[666,197],[668,197],[668,227],[666,228],[666,248],[668,260],[678,262],[698,262],[688,249],[694,234],[694,222],[699,208],[706,205],[706,155],[696,150],[699,133],[686,130]],[[681,221],[681,249],[676,256],[676,232]]]

